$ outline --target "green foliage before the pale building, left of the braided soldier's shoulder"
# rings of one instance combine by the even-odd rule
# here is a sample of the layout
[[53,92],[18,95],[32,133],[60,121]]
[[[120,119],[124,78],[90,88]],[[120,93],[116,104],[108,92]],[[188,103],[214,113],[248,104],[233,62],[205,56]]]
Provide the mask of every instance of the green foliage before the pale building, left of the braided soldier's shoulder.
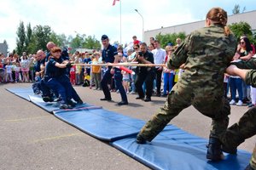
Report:
[[166,48],[166,45],[170,42],[172,42],[173,45],[175,45],[177,37],[179,37],[183,41],[186,37],[186,34],[184,32],[165,34],[165,35],[162,35],[161,33],[159,33],[158,35],[156,35],[155,38],[160,41],[161,48]]

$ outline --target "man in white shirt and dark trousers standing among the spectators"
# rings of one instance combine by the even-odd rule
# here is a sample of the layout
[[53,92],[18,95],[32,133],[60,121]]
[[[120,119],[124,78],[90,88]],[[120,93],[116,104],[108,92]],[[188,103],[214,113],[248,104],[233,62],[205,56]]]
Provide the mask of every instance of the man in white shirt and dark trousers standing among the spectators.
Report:
[[[154,55],[154,64],[164,64],[166,57],[166,50],[160,48],[160,42],[154,40],[154,49],[152,50]],[[160,96],[161,78],[162,78],[163,67],[155,66],[155,81],[156,81],[156,96]]]

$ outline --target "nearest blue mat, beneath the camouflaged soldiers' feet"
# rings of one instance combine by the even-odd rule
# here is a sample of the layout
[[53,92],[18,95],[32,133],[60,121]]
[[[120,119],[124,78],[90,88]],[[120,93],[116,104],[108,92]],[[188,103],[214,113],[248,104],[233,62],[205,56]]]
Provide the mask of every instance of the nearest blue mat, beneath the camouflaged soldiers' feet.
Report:
[[245,150],[237,155],[224,153],[223,161],[208,161],[207,139],[184,132],[169,125],[152,141],[137,144],[136,136],[111,143],[128,156],[153,169],[172,170],[243,170],[251,158]]

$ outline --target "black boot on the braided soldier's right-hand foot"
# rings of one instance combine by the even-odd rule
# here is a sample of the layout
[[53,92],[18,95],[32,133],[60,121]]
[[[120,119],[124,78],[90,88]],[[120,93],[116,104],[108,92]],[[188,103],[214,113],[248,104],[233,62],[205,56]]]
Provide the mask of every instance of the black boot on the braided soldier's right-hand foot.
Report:
[[222,160],[224,157],[221,151],[221,143],[219,139],[210,137],[208,149],[207,149],[207,159],[212,161]]

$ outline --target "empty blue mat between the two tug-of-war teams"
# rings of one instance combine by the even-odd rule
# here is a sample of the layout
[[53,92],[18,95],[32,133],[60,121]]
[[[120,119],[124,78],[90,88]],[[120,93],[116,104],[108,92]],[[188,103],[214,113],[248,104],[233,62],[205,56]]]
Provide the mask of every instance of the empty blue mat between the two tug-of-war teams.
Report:
[[145,122],[103,109],[54,111],[56,117],[96,139],[114,141],[136,135]]

